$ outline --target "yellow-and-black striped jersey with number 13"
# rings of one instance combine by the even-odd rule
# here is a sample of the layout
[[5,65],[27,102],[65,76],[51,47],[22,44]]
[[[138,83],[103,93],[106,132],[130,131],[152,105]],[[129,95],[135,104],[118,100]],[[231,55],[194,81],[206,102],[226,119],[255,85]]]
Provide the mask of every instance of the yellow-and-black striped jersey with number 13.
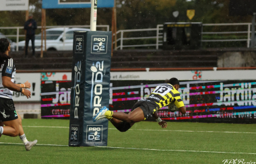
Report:
[[156,105],[158,105],[156,110],[159,110],[164,106],[168,106],[172,102],[174,102],[177,108],[184,106],[181,94],[169,83],[157,86],[150,94],[150,97],[148,97],[148,100],[154,101]]

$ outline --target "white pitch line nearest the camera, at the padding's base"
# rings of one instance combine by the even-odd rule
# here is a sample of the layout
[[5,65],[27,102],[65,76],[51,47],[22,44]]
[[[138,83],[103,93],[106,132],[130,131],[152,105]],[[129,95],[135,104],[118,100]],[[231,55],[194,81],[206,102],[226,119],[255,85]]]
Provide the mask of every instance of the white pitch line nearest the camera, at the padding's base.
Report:
[[[10,143],[10,142],[0,142],[0,144],[23,145],[22,143]],[[68,147],[68,145],[51,145],[51,144],[36,144],[36,145],[38,145],[38,146],[53,146],[53,147]],[[100,146],[98,146],[98,147],[100,147]],[[256,153],[222,152],[222,151],[186,151],[186,150],[143,149],[143,148],[131,148],[131,147],[100,147],[100,148],[132,149],[132,150],[143,150],[143,151],[179,151],[179,152],[194,152],[194,153],[226,153],[226,154],[256,155]]]

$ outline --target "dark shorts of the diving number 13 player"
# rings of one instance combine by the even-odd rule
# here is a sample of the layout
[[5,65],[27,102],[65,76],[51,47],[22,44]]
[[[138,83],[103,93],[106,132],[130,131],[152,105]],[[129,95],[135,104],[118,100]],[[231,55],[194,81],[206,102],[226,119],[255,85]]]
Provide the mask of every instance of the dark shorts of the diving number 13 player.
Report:
[[148,99],[140,99],[139,101],[137,101],[131,111],[135,110],[138,107],[141,108],[141,110],[143,111],[144,120],[146,120],[149,116],[156,112],[156,104]]

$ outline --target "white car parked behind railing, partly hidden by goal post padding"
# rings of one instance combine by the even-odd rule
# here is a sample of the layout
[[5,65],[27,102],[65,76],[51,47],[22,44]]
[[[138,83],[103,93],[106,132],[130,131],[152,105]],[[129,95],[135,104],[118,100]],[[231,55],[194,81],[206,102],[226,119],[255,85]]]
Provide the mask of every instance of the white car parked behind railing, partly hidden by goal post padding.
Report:
[[[73,50],[73,32],[74,31],[90,31],[87,28],[49,28],[46,30],[46,50]],[[44,37],[44,36],[43,36]],[[41,34],[35,37],[35,50],[41,50]],[[25,40],[18,43],[19,50],[24,50]],[[32,49],[31,41],[28,48]],[[44,40],[43,40],[44,50]]]

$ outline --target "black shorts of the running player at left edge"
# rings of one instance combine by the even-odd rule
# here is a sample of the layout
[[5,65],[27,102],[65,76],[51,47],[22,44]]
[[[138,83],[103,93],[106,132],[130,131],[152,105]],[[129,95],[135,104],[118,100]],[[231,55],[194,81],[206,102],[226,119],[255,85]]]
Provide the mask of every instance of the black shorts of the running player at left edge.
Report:
[[15,110],[13,100],[0,97],[0,121],[16,120],[18,114]]

